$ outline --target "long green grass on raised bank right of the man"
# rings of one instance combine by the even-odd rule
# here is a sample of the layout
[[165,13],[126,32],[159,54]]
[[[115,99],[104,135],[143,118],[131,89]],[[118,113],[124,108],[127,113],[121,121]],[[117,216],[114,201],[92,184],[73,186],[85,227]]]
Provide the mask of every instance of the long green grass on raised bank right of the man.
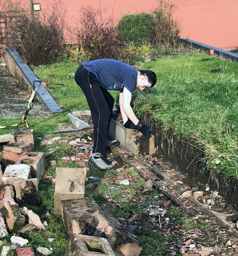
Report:
[[[217,68],[224,71],[210,71]],[[133,93],[137,116],[150,113],[181,140],[198,141],[212,177],[222,173],[237,178],[238,63],[189,53],[147,62],[141,69],[155,71],[158,82],[153,89]]]

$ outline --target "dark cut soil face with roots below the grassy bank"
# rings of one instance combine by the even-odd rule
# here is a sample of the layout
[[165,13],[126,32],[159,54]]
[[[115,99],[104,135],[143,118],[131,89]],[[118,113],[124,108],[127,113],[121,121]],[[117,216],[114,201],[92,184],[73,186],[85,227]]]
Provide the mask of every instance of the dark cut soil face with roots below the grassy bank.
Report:
[[[150,121],[150,116],[145,117],[145,123],[153,127],[155,132],[155,147],[156,153],[152,157],[156,157],[163,162],[170,162],[172,168],[177,168],[184,174],[183,182],[191,187],[204,188],[208,184],[211,190],[219,191],[228,205],[238,210],[238,181],[224,180],[218,176],[216,180],[212,180],[208,170],[203,171],[201,158],[203,156],[202,148],[196,141],[188,141],[186,138],[178,138],[173,135],[172,130],[164,131],[163,124],[156,125]],[[144,137],[138,139],[140,143],[140,154],[147,155],[148,142]]]

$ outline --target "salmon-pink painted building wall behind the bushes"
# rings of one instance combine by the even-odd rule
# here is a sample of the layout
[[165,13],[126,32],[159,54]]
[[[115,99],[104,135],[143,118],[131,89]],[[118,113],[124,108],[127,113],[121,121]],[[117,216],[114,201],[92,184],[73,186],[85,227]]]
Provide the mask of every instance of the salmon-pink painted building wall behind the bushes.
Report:
[[[54,1],[35,0],[41,4],[42,15]],[[81,9],[93,6],[101,10],[103,18],[113,18],[115,24],[126,13],[151,12],[158,0],[61,0],[65,10],[66,41],[75,41],[75,31],[81,18]],[[224,50],[238,49],[238,0],[171,0],[176,6],[174,18],[181,24],[180,37],[189,38]],[[30,0],[21,0],[30,9]]]

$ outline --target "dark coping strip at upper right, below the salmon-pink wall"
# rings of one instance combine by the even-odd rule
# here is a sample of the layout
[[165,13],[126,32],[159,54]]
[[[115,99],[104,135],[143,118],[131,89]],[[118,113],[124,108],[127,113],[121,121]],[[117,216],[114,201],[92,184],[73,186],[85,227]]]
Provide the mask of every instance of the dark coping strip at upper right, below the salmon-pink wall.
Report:
[[225,51],[225,50],[222,50],[222,49],[219,49],[219,48],[207,45],[207,44],[203,44],[203,43],[191,40],[191,39],[187,39],[187,38],[180,38],[180,40],[182,42],[186,43],[186,44],[189,44],[191,46],[194,46],[196,48],[200,48],[200,49],[208,51],[208,52],[209,52],[209,50],[214,50],[214,53],[217,54],[217,55],[221,55],[221,56],[226,57],[228,59],[238,61],[238,54],[228,52],[228,51]]

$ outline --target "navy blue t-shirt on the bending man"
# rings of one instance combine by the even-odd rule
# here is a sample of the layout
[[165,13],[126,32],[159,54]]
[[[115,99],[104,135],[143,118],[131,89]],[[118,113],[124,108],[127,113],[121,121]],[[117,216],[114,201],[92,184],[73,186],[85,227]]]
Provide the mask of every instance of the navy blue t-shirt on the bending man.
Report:
[[99,59],[82,63],[83,67],[93,72],[100,86],[107,90],[130,92],[137,84],[138,71],[132,66],[118,60]]

